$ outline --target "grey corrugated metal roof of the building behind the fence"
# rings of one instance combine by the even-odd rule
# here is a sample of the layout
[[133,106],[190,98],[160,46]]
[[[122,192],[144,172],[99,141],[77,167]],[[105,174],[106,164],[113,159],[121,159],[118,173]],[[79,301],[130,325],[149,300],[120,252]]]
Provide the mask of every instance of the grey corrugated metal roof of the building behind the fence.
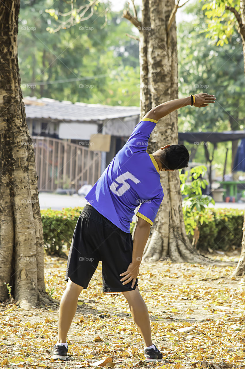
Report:
[[71,103],[42,97],[24,97],[27,118],[48,118],[65,121],[91,121],[123,118],[140,114],[137,106],[109,106],[102,104]]

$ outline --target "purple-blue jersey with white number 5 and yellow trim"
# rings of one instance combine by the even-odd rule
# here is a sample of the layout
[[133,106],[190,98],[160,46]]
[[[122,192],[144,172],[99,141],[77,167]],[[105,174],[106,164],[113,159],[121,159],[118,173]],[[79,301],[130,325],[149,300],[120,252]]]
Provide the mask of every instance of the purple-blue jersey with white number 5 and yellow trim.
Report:
[[159,168],[146,149],[154,119],[136,125],[126,144],[116,154],[85,199],[122,231],[130,232],[134,210],[151,225],[163,199]]

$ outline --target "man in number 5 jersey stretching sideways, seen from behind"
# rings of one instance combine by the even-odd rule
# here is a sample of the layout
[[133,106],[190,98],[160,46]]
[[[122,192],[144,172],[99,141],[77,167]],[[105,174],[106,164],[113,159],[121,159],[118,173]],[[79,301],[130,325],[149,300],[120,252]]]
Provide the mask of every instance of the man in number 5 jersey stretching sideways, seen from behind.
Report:
[[[143,338],[146,361],[162,360],[162,353],[151,341],[150,319],[137,276],[150,227],[163,199],[159,172],[186,168],[189,153],[184,145],[165,145],[147,154],[148,139],[165,115],[187,105],[205,107],[215,100],[214,95],[199,93],[152,108],[85,196],[88,204],[78,218],[67,261],[68,283],[60,301],[59,335],[51,351],[53,359],[66,360],[66,337],[78,297],[102,261],[103,292],[123,293]],[[132,239],[130,222],[139,203]]]

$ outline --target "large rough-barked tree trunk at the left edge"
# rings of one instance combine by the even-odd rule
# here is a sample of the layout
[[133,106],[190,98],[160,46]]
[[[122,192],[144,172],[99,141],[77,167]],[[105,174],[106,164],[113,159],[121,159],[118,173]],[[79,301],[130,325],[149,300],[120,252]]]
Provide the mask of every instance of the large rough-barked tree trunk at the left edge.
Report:
[[17,55],[20,0],[0,2],[0,300],[22,308],[48,301],[34,146],[26,124]]

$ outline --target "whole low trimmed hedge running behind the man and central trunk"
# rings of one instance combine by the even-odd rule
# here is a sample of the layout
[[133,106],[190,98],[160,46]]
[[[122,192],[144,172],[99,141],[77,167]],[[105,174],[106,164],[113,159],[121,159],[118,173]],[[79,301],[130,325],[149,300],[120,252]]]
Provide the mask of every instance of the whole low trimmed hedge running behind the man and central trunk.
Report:
[[[48,254],[63,255],[63,246],[70,248],[73,231],[82,207],[59,210],[41,210],[43,238]],[[199,225],[197,248],[225,250],[229,246],[239,247],[242,241],[244,211],[237,209],[209,210],[208,220]],[[132,230],[133,223],[130,230]],[[192,241],[192,236],[188,237]]]

